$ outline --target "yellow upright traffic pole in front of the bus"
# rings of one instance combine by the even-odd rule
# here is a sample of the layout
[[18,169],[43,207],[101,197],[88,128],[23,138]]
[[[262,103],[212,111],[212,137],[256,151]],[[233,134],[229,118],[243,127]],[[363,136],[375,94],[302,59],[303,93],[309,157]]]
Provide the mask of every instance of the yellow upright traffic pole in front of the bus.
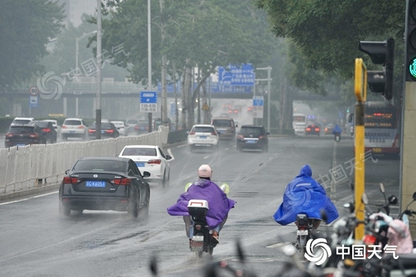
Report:
[[[367,98],[367,67],[363,59],[355,60],[354,93],[357,98],[355,105],[355,211],[359,221],[364,220],[365,205],[361,196],[365,191],[365,163],[364,163],[364,104]],[[363,224],[358,224],[355,229],[355,239],[361,240],[364,236]]]

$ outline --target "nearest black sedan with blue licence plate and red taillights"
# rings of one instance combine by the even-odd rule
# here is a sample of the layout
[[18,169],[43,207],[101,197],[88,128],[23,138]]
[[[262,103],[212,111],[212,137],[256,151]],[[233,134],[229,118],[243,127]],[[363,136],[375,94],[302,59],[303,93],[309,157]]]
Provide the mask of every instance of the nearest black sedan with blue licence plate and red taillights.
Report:
[[147,215],[150,186],[132,159],[119,157],[83,157],[76,161],[59,189],[60,215],[71,211],[127,211],[138,217]]

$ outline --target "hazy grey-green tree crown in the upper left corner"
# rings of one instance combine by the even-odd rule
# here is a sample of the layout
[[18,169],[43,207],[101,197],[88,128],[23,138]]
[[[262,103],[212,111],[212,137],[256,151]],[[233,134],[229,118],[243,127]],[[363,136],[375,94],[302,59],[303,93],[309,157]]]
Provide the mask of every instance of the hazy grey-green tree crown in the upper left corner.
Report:
[[63,8],[55,1],[0,2],[0,91],[43,70],[46,44],[60,33]]

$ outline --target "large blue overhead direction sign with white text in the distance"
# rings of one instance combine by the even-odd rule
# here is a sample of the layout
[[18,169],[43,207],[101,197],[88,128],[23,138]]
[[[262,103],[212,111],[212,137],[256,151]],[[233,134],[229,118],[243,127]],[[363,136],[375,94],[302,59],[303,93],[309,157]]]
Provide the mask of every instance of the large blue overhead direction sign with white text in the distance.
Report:
[[254,69],[251,64],[242,66],[229,66],[225,69],[223,66],[218,68],[218,82],[225,86],[254,86]]

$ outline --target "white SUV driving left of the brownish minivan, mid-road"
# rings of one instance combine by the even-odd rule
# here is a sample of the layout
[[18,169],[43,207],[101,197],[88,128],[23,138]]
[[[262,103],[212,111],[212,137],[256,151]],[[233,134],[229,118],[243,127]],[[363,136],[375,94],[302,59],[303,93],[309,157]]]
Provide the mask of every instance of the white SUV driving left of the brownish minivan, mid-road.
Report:
[[196,124],[188,133],[189,150],[196,148],[211,148],[218,151],[220,139],[214,125]]

